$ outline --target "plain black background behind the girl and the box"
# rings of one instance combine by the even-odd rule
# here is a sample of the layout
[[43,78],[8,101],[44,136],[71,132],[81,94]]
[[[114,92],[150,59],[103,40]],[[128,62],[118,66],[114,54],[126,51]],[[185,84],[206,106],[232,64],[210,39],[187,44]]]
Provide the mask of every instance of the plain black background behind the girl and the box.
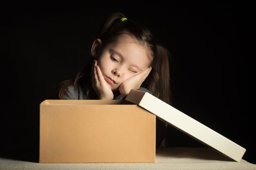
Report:
[[[39,104],[76,76],[112,12],[152,30],[172,54],[172,105],[247,149],[256,163],[252,112],[252,4],[135,2],[1,5],[0,156],[38,161]],[[173,135],[174,134],[174,135]],[[197,146],[174,131],[170,146]]]

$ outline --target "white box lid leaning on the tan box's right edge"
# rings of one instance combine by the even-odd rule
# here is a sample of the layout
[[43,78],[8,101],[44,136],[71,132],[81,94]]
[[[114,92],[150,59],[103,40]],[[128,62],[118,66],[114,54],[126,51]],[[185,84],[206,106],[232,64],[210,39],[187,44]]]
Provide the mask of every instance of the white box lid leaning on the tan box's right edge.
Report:
[[125,100],[138,104],[181,132],[197,139],[204,145],[213,148],[217,152],[237,162],[241,160],[246,151],[246,149],[235,142],[218,134],[216,131],[187,116],[148,92],[132,89]]

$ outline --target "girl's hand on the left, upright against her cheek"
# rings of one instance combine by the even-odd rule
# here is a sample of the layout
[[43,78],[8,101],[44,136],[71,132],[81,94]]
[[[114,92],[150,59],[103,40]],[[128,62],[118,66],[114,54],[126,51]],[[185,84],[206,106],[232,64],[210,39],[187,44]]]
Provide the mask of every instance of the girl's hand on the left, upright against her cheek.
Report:
[[97,63],[98,61],[94,60],[94,64],[92,66],[92,71],[91,71],[93,89],[97,93],[98,99],[100,100],[113,99],[114,94],[111,88],[108,86],[107,82],[105,81]]

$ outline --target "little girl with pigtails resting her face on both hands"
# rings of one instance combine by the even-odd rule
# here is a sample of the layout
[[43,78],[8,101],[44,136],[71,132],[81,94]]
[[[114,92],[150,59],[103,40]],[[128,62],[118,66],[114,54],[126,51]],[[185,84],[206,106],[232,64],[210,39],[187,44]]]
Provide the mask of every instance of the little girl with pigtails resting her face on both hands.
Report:
[[[131,89],[170,104],[170,53],[151,32],[122,13],[106,18],[91,48],[91,58],[75,79],[58,85],[59,99],[123,100]],[[157,118],[156,147],[164,147],[165,127]]]

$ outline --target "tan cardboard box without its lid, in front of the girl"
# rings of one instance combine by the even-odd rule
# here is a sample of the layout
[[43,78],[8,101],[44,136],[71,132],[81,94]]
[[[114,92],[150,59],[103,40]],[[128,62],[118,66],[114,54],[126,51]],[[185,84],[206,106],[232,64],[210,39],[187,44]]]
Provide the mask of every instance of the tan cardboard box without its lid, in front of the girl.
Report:
[[39,163],[155,162],[156,115],[124,100],[40,103]]

